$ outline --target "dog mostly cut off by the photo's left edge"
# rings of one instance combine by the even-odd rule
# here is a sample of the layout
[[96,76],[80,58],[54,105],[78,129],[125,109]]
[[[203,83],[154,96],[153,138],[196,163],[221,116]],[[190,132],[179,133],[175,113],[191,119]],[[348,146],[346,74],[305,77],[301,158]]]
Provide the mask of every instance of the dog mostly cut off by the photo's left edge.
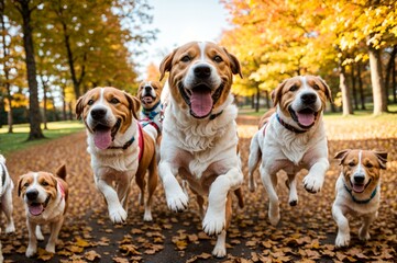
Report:
[[[2,213],[5,215],[5,233],[12,233],[15,231],[14,221],[12,218],[12,190],[14,184],[10,178],[10,174],[5,167],[5,158],[0,155],[0,216]],[[1,228],[0,228],[1,233]],[[0,262],[3,261],[1,242],[0,242]]]

